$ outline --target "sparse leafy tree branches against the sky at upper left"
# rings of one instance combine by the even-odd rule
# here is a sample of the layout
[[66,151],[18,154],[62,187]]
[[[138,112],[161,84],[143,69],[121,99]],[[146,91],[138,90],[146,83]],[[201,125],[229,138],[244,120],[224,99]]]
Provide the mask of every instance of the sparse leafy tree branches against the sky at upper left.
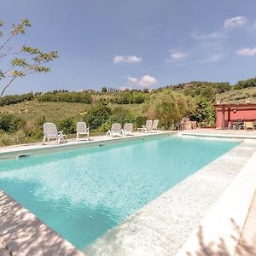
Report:
[[[0,28],[3,26],[4,22],[0,20]],[[5,70],[0,68],[0,83],[2,82],[1,84],[3,84],[3,89],[0,90],[0,98],[15,79],[32,73],[47,73],[50,69],[45,67],[44,64],[58,58],[56,51],[44,53],[38,48],[27,45],[23,45],[17,50],[8,48],[10,41],[20,34],[25,34],[26,28],[29,26],[31,26],[29,20],[21,19],[18,24],[14,24],[11,27],[6,38],[3,38],[3,32],[0,30],[0,37],[3,38],[3,42],[0,44],[0,60],[4,58],[9,60],[10,56],[15,56],[11,59],[9,68]]]

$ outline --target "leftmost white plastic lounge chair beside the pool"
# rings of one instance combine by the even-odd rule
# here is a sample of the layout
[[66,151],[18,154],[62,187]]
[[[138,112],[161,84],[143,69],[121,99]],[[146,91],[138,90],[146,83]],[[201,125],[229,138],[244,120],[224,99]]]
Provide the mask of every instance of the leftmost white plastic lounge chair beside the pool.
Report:
[[61,141],[67,142],[67,135],[64,135],[63,131],[58,131],[54,123],[44,123],[44,140],[42,144],[44,144],[46,140],[49,142],[51,139],[55,139],[55,141],[60,144]]

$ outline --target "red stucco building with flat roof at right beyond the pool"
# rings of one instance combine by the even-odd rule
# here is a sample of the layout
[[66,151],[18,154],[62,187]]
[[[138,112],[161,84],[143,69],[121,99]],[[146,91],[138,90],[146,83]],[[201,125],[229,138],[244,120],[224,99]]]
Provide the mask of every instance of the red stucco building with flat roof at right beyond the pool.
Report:
[[227,129],[229,122],[234,123],[237,119],[253,122],[256,120],[256,104],[252,103],[217,103],[216,128]]

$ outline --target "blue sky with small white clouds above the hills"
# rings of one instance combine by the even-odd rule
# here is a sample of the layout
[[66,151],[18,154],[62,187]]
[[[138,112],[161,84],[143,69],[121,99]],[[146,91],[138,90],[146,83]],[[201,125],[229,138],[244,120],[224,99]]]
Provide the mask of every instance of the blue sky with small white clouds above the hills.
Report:
[[50,73],[17,80],[7,94],[255,77],[255,10],[255,0],[3,0],[4,32],[32,22],[12,47],[60,55]]

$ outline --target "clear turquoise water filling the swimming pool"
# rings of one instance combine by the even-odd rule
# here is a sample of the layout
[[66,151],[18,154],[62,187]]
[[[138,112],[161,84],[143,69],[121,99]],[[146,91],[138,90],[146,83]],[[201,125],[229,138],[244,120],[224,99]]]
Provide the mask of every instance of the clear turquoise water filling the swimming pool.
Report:
[[0,161],[0,188],[80,249],[236,146],[160,137]]

